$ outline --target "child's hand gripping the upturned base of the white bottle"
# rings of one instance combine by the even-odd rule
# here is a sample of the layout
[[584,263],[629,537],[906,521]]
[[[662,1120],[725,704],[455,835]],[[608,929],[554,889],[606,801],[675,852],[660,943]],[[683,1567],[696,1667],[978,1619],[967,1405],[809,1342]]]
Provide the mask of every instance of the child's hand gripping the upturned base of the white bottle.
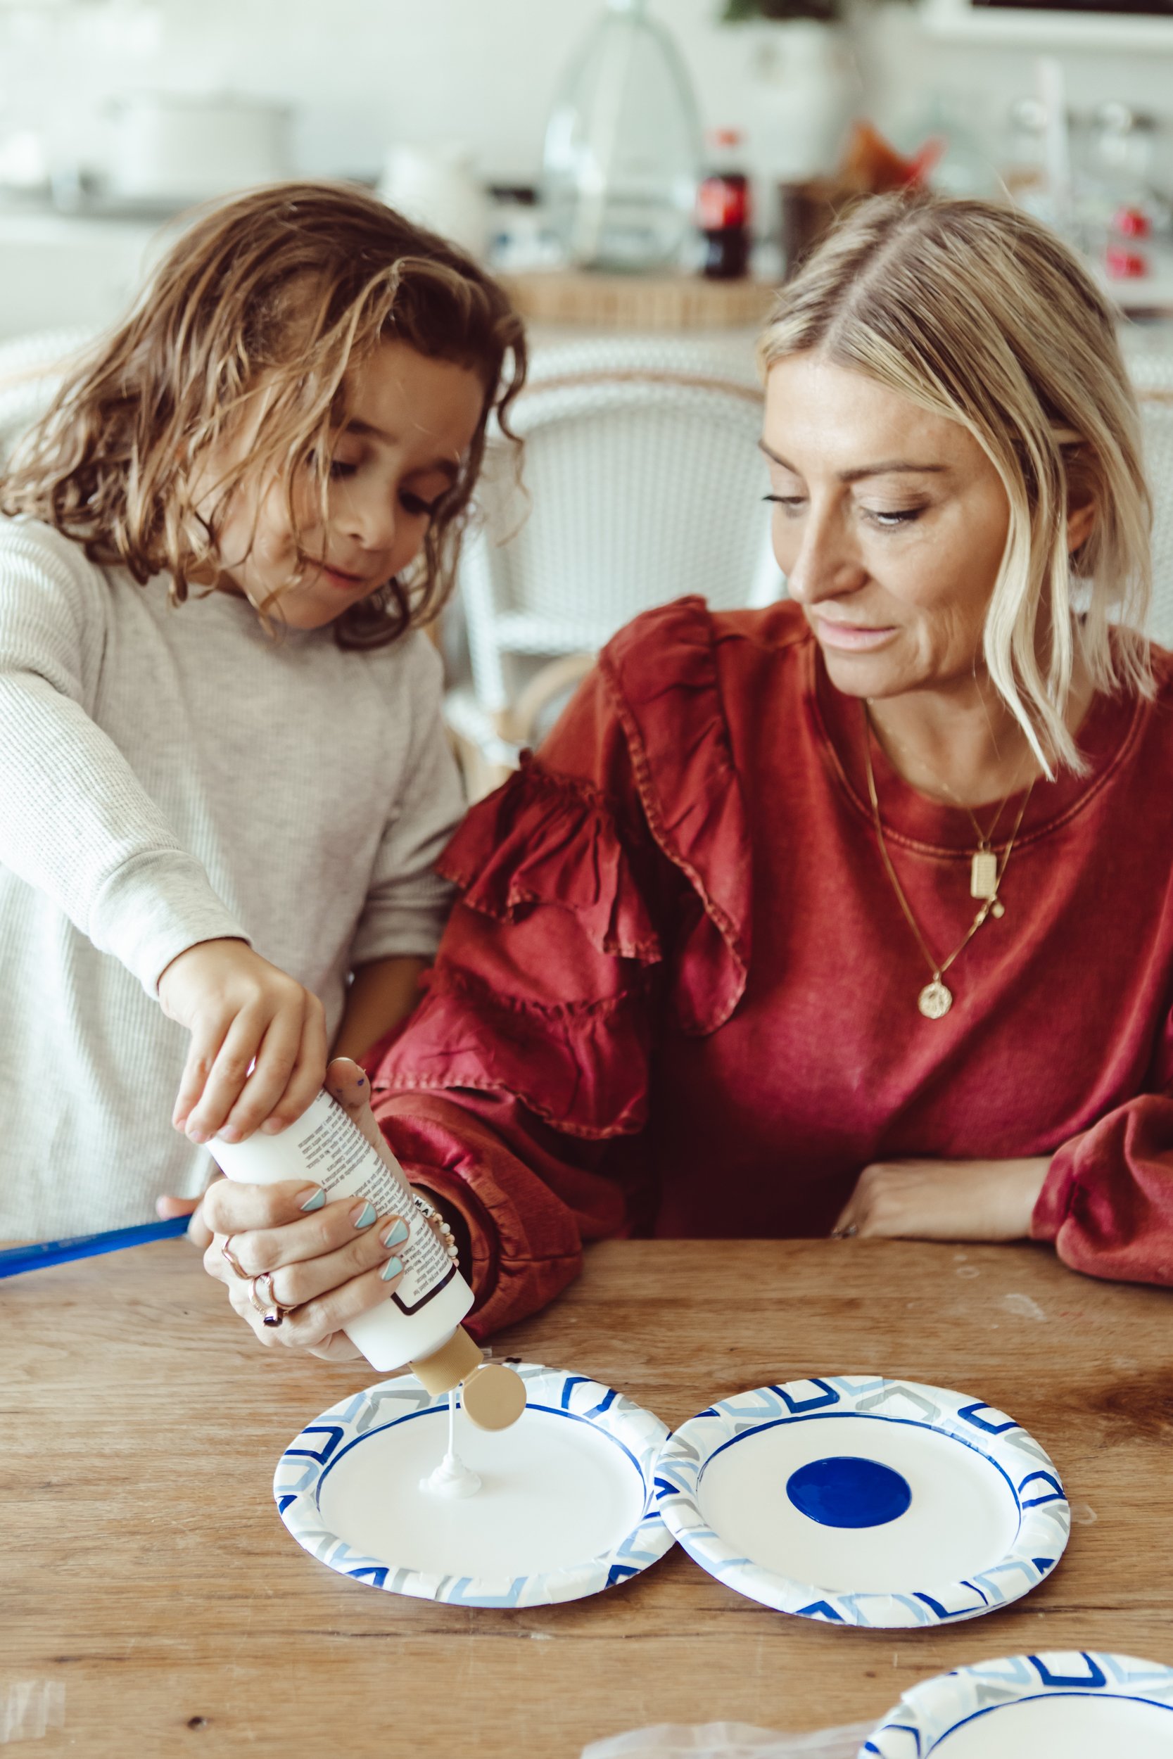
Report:
[[158,999],[192,1034],[171,1119],[192,1142],[285,1129],[322,1087],[322,1003],[244,941],[188,946],[158,980]]

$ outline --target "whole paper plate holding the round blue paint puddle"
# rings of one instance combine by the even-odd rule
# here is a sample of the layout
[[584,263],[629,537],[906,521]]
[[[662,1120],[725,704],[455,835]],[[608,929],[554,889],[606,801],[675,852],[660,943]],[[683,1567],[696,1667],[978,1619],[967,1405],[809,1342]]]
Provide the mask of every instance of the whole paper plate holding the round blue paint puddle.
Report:
[[965,1393],[881,1376],[758,1386],[689,1418],[659,1511],[702,1569],[798,1618],[978,1618],[1059,1562],[1071,1511],[1039,1444]]

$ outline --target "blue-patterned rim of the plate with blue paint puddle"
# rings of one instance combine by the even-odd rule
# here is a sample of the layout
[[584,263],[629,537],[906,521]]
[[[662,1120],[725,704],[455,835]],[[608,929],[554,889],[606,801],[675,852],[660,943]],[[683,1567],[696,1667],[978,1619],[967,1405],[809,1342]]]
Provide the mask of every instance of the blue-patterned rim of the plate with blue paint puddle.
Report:
[[[1006,1557],[967,1581],[925,1583],[904,1594],[842,1594],[795,1581],[730,1546],[698,1504],[700,1481],[714,1453],[760,1428],[828,1416],[932,1428],[990,1460],[1018,1504],[1018,1532]],[[1006,1606],[1050,1574],[1071,1530],[1071,1511],[1053,1462],[1013,1418],[964,1393],[881,1376],[790,1381],[723,1398],[668,1437],[656,1462],[656,1495],[675,1537],[718,1581],[779,1613],[869,1629],[953,1624]]]

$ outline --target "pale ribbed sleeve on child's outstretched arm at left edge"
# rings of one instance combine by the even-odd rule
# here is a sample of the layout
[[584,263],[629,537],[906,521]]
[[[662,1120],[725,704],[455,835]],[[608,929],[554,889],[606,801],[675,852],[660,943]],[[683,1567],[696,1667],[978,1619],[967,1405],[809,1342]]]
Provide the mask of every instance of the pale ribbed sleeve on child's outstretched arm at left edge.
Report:
[[91,719],[109,588],[47,528],[0,529],[0,862],[149,996],[197,941],[248,939]]

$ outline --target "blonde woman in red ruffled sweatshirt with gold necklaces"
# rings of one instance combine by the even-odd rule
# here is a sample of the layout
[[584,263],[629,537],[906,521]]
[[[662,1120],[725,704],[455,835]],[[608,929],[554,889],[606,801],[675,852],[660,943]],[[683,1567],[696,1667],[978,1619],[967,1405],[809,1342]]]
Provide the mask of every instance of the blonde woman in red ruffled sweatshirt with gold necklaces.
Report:
[[[1111,310],[1022,215],[885,199],[761,359],[788,602],[608,644],[448,846],[429,994],[368,1059],[482,1332],[619,1231],[1173,1281],[1173,660]],[[237,1259],[332,1351],[343,1237],[267,1201]]]

